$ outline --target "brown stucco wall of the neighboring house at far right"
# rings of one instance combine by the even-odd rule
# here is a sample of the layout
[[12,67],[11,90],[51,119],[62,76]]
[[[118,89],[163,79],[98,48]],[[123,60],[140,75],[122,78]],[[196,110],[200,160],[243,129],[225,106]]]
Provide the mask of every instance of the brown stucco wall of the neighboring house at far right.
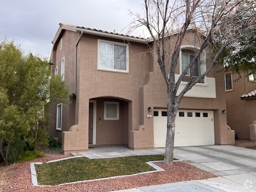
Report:
[[226,114],[227,122],[231,129],[238,133],[238,138],[250,138],[249,125],[256,120],[256,99],[241,100],[241,96],[256,89],[256,82],[248,81],[247,72],[241,72],[241,78],[238,74],[232,74],[233,90],[226,92]]

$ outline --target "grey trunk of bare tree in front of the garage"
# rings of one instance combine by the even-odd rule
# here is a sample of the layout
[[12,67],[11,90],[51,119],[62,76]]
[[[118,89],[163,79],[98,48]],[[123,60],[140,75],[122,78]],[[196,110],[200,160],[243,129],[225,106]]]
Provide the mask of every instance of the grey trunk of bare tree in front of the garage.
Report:
[[173,150],[174,150],[174,134],[175,134],[175,118],[176,111],[174,110],[175,96],[171,95],[171,91],[167,89],[167,133],[165,142],[165,164],[173,164]]

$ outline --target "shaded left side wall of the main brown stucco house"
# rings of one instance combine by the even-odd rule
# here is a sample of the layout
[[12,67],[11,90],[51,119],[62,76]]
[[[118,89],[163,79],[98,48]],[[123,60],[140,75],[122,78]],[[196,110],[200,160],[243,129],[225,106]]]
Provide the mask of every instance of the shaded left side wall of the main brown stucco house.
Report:
[[[56,50],[52,52],[52,72],[54,74],[54,69],[58,66],[58,74],[61,74],[61,59],[65,57],[65,82],[67,87],[71,90],[70,93],[74,93],[75,90],[75,44],[79,37],[79,33],[73,31],[64,31],[62,35],[62,49],[59,50],[59,42],[57,43]],[[61,131],[56,130],[56,111],[57,104],[54,103],[50,108],[49,117],[49,129],[48,132],[53,137],[62,138],[62,131],[69,131],[70,127],[75,124],[75,96],[69,97],[69,105],[63,106],[62,109],[62,122]]]

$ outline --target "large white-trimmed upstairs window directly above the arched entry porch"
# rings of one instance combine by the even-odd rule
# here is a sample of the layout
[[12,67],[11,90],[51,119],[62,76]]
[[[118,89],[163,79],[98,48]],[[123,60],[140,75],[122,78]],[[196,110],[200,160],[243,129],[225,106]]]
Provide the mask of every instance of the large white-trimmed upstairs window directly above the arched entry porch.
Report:
[[98,70],[129,71],[128,44],[98,40]]

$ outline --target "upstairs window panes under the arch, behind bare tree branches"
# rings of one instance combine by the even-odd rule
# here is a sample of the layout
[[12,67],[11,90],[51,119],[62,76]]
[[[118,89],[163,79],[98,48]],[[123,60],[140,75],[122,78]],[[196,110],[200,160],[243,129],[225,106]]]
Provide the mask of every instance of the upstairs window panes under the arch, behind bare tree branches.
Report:
[[[181,62],[182,62],[182,72],[184,72],[185,68],[187,67],[187,65],[189,65],[189,63],[195,58],[195,55],[190,55],[190,54],[181,54]],[[189,68],[187,70],[187,76],[190,76],[190,71],[192,70],[192,68]],[[193,76],[195,77],[199,77],[199,61],[197,59],[196,61],[196,65],[195,65],[195,69],[193,72]]]

